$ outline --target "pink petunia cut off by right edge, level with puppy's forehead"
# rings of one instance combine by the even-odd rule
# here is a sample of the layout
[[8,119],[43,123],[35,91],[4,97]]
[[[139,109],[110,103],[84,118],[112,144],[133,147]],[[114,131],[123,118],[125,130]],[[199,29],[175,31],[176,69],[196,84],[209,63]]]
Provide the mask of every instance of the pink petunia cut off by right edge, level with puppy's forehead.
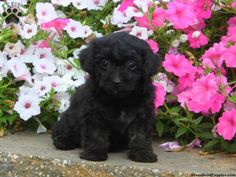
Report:
[[236,45],[227,48],[223,58],[227,67],[236,68]]

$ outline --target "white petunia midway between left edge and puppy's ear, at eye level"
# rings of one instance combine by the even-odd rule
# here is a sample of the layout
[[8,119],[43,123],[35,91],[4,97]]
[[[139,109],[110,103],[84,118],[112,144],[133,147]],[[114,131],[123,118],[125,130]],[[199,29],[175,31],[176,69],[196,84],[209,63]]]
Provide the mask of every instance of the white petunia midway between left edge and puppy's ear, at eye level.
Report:
[[34,69],[37,73],[43,74],[53,74],[56,70],[56,66],[49,60],[35,60],[34,61]]

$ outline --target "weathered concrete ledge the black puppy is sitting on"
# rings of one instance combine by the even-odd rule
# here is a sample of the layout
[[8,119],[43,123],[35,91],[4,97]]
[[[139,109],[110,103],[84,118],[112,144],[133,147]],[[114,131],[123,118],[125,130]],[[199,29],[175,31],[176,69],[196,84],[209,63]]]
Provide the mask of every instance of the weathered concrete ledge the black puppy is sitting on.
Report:
[[159,143],[153,144],[157,163],[132,162],[125,152],[110,153],[105,162],[90,162],[79,159],[80,149],[55,149],[50,134],[18,132],[0,138],[0,176],[236,176],[235,156],[223,153],[200,156],[199,150],[165,152]]

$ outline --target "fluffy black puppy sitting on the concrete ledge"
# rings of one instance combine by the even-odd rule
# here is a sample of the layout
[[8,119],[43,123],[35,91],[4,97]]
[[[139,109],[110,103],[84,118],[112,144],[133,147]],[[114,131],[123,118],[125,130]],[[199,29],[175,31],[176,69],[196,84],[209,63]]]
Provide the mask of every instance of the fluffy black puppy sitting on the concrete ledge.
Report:
[[54,125],[54,145],[82,147],[80,158],[93,161],[121,148],[129,148],[133,161],[157,161],[150,137],[155,122],[151,76],[159,58],[145,41],[118,32],[90,42],[79,59],[90,76]]

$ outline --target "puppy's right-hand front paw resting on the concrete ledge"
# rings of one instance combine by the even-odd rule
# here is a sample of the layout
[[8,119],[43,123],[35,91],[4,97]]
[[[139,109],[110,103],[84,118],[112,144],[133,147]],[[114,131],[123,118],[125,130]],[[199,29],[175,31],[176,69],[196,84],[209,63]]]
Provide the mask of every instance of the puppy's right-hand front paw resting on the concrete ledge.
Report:
[[128,152],[130,160],[135,162],[156,162],[157,155],[149,151]]

